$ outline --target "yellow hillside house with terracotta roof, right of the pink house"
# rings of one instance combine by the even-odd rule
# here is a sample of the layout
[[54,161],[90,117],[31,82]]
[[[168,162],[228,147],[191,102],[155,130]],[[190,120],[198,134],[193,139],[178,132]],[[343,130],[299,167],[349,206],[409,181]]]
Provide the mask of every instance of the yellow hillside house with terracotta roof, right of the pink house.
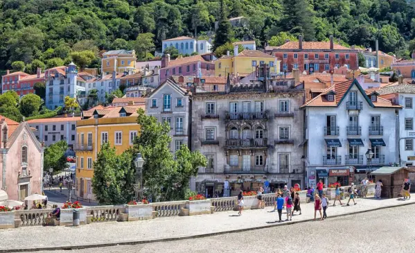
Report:
[[268,64],[272,74],[280,73],[280,61],[272,55],[258,50],[244,50],[238,53],[236,46],[233,52],[233,55],[227,53],[215,61],[215,76],[227,76],[228,73],[246,76],[264,63]]

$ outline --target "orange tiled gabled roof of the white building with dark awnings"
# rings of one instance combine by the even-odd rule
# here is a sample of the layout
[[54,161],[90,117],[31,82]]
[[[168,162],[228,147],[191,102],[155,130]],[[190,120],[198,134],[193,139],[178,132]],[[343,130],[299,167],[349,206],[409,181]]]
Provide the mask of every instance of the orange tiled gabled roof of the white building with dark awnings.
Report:
[[[315,98],[310,99],[307,101],[304,105],[301,105],[300,108],[305,107],[337,107],[339,106],[346,95],[348,94],[348,91],[353,86],[356,86],[357,89],[359,89],[360,93],[364,97],[364,99],[367,101],[367,103],[371,107],[396,107],[396,108],[402,108],[400,105],[396,105],[392,103],[391,101],[385,99],[385,98],[378,98],[377,101],[373,102],[369,99],[366,92],[362,89],[362,86],[360,86],[359,82],[357,82],[356,79],[354,80],[348,80],[346,82],[340,82],[337,83],[331,87],[328,87],[325,91],[323,91],[321,94],[316,96]],[[332,91],[335,92],[335,99],[334,101],[328,101],[326,99],[326,95],[330,94]]]

